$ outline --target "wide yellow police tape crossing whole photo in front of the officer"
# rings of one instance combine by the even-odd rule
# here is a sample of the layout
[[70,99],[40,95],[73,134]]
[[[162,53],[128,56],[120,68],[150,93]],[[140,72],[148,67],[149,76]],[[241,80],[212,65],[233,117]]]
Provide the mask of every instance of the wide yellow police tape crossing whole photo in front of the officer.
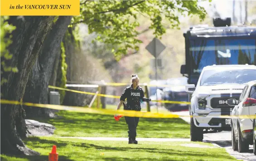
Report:
[[140,118],[179,118],[179,117],[194,117],[194,118],[256,118],[256,115],[240,115],[240,116],[230,116],[230,115],[220,115],[220,116],[188,116],[188,115],[178,115],[178,114],[167,114],[167,113],[152,113],[152,112],[141,112],[141,111],[132,111],[132,110],[113,110],[113,109],[92,109],[87,107],[77,107],[77,106],[64,106],[56,104],[34,104],[34,103],[24,103],[13,100],[0,99],[1,104],[19,104],[40,108],[48,109],[58,109],[58,110],[67,110],[73,112],[82,112],[82,113],[94,113],[94,114],[121,114],[123,116],[130,117],[140,117]]

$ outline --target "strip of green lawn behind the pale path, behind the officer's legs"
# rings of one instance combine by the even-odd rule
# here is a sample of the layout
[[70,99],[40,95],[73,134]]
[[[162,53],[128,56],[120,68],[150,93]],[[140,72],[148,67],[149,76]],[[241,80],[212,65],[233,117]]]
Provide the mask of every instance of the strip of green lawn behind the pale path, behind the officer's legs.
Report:
[[[116,121],[113,115],[68,111],[60,111],[58,116],[49,120],[35,120],[57,128],[53,136],[128,137],[128,125],[124,117]],[[190,126],[181,118],[140,118],[137,137],[190,138]]]

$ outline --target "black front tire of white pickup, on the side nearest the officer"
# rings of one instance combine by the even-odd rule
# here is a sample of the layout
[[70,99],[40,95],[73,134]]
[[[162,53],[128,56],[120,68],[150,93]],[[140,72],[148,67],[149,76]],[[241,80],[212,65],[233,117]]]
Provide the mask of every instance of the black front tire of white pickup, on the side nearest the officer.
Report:
[[195,126],[193,118],[190,118],[190,140],[191,142],[203,142],[203,129]]

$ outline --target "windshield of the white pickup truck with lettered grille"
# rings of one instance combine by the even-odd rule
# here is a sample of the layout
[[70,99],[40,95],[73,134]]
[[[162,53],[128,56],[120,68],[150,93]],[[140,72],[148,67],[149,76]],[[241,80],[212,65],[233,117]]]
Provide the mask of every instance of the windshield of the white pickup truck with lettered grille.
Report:
[[200,85],[245,84],[251,80],[256,80],[254,69],[208,70],[203,73]]

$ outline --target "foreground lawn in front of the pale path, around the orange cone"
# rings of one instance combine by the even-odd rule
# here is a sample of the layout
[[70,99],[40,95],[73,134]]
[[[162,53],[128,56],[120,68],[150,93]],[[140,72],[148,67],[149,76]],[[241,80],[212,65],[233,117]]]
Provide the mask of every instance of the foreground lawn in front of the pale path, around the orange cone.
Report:
[[[26,145],[40,152],[40,156],[6,156],[1,161],[48,161],[52,146],[57,145],[59,161],[236,161],[225,148],[204,142],[139,142],[138,145],[122,141],[87,141],[54,137],[29,137]],[[186,143],[207,145],[186,147]]]

